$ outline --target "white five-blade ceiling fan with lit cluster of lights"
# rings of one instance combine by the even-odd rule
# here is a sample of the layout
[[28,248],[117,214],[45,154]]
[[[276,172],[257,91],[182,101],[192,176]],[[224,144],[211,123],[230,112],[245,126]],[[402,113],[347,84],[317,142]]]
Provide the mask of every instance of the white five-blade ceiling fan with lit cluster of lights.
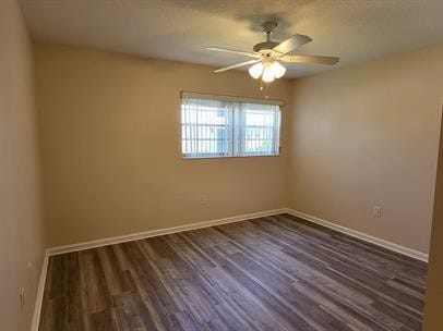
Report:
[[335,57],[319,57],[319,56],[291,56],[290,51],[312,41],[312,39],[304,35],[294,35],[283,42],[271,40],[273,30],[277,27],[277,23],[270,21],[262,24],[263,33],[266,35],[266,41],[254,45],[253,51],[241,51],[220,47],[206,47],[208,50],[228,52],[240,54],[253,60],[237,63],[226,68],[217,69],[214,72],[224,72],[235,68],[240,68],[253,64],[249,69],[249,74],[258,79],[262,77],[265,83],[271,83],[275,78],[280,78],[286,73],[286,68],[280,62],[287,63],[314,63],[314,64],[336,64],[339,58]]

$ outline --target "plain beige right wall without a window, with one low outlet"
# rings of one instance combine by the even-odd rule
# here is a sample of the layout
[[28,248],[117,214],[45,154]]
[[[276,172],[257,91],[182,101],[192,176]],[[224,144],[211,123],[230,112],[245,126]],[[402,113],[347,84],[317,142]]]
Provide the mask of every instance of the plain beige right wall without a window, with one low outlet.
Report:
[[442,59],[429,48],[296,81],[290,207],[427,254]]

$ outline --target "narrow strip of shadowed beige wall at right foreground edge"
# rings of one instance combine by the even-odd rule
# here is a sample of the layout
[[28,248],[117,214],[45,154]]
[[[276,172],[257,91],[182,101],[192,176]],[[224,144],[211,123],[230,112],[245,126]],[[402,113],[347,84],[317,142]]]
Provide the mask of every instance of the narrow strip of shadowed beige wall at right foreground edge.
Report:
[[439,167],[436,172],[431,252],[429,260],[424,331],[443,330],[443,122],[440,136]]

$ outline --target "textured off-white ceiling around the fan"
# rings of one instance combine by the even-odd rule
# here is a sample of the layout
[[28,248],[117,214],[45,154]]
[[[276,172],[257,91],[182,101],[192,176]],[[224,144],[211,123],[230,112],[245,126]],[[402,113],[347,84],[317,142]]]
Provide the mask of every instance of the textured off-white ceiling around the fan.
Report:
[[[35,40],[224,66],[241,56],[206,46],[251,50],[260,24],[274,35],[313,41],[295,53],[338,56],[337,66],[443,42],[442,0],[21,0]],[[289,68],[289,65],[288,65]],[[291,64],[288,76],[330,66]]]

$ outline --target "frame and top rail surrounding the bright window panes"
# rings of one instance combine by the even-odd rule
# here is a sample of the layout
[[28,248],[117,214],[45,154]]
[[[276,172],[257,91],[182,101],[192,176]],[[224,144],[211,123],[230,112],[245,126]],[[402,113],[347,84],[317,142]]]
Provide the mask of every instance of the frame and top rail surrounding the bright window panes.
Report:
[[[273,105],[273,106],[278,106],[278,123],[276,126],[273,126],[274,135],[277,135],[277,138],[274,140],[273,139],[273,144],[277,145],[276,146],[276,150],[277,152],[275,154],[258,154],[258,155],[235,155],[235,150],[238,149],[238,147],[236,147],[235,145],[235,130],[231,128],[229,130],[228,134],[230,136],[230,140],[228,140],[228,143],[230,143],[231,146],[228,147],[228,154],[227,155],[222,155],[223,152],[219,154],[215,154],[214,155],[199,155],[199,156],[187,156],[183,152],[183,118],[182,118],[182,105],[183,98],[195,98],[195,99],[207,99],[207,100],[215,100],[215,101],[226,101],[226,102],[239,102],[239,103],[255,103],[255,105]],[[249,98],[249,97],[239,97],[239,96],[227,96],[227,95],[214,95],[214,94],[202,94],[202,93],[193,93],[193,91],[181,91],[180,93],[180,99],[179,99],[179,126],[180,126],[180,142],[179,142],[179,146],[180,146],[180,156],[182,160],[200,160],[200,159],[232,159],[232,158],[267,158],[267,157],[279,157],[282,155],[282,119],[283,119],[283,108],[284,108],[284,102],[282,100],[273,100],[273,99],[260,99],[260,98]],[[230,127],[234,126],[234,113],[231,110],[231,113],[229,115],[231,123],[229,124]],[[243,122],[244,123],[244,122]],[[246,125],[243,124],[244,128]],[[238,137],[237,137],[238,139]],[[241,139],[241,149],[244,152],[244,142],[246,139]],[[238,139],[238,142],[240,142],[240,139]],[[231,152],[231,154],[229,154]]]

